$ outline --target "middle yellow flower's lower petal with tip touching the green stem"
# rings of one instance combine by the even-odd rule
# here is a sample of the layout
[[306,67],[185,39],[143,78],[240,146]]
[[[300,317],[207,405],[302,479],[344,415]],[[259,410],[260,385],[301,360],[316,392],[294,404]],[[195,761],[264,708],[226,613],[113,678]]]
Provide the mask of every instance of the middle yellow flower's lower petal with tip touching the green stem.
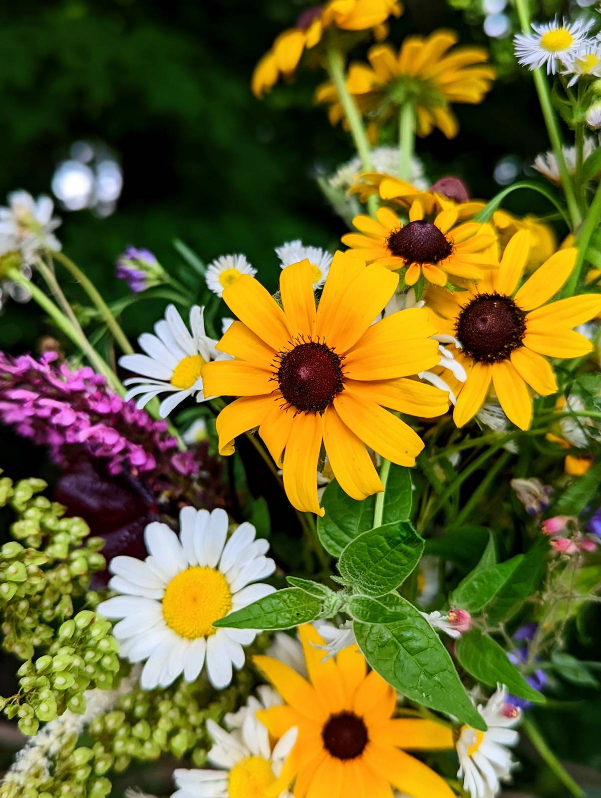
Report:
[[338,484],[359,501],[384,490],[365,444],[342,423],[333,407],[323,416],[323,444]]

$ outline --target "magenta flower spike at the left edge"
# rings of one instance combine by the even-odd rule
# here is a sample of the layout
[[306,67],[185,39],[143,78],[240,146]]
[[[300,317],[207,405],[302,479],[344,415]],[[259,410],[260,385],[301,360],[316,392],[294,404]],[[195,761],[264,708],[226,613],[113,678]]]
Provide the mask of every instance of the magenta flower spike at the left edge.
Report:
[[[77,452],[105,460],[110,474],[147,478],[196,476],[193,452],[180,452],[166,421],[107,388],[105,377],[84,367],[71,371],[50,352],[10,358],[0,353],[0,421],[49,447],[65,465]],[[174,473],[175,472],[175,473]]]

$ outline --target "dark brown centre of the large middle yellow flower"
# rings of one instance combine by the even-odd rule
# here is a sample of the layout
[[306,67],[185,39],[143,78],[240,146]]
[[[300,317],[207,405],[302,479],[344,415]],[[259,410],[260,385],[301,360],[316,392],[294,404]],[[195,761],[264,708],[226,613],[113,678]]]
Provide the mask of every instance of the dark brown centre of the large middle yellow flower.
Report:
[[344,389],[341,358],[316,341],[299,343],[280,354],[276,377],[288,405],[305,413],[323,413]]

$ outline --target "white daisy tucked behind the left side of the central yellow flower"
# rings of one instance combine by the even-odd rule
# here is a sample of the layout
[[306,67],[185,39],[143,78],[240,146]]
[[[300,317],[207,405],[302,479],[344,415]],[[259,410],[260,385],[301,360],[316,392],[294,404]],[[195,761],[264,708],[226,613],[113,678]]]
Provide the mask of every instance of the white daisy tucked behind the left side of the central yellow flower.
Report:
[[160,393],[171,393],[159,408],[160,417],[165,418],[186,397],[196,394],[196,401],[208,399],[201,370],[208,361],[224,360],[227,355],[215,350],[217,342],[205,334],[203,313],[204,308],[197,305],[190,310],[190,334],[176,307],[169,305],[165,318],[154,326],[156,335],[144,333],[138,338],[146,354],[119,358],[124,369],[144,375],[124,380],[124,385],[134,386],[125,394],[126,400],[139,396],[136,405],[143,408]]

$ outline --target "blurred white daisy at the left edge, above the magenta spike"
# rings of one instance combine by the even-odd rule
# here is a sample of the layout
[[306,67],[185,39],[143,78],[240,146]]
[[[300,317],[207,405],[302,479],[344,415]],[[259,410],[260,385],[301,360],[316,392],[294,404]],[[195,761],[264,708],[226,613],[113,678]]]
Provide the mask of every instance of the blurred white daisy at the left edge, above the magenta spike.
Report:
[[0,239],[20,251],[25,263],[32,263],[38,251],[60,250],[61,242],[53,231],[61,219],[53,218],[54,204],[49,196],[34,199],[28,192],[11,192],[8,207],[0,207]]

